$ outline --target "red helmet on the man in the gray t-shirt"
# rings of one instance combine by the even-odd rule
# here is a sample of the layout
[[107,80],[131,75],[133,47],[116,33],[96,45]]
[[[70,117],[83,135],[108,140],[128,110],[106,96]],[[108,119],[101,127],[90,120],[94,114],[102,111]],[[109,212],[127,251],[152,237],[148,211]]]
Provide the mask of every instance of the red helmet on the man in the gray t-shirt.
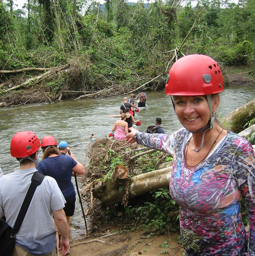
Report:
[[16,133],[10,141],[10,154],[13,157],[27,157],[41,147],[38,137],[30,131]]

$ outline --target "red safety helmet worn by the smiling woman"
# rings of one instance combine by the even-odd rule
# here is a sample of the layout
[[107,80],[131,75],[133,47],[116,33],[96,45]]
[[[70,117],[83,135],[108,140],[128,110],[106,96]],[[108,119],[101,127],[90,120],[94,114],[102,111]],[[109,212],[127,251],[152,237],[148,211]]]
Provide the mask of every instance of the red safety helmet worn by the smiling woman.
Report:
[[209,56],[191,54],[178,59],[168,73],[167,95],[211,95],[222,92],[223,77],[217,62]]

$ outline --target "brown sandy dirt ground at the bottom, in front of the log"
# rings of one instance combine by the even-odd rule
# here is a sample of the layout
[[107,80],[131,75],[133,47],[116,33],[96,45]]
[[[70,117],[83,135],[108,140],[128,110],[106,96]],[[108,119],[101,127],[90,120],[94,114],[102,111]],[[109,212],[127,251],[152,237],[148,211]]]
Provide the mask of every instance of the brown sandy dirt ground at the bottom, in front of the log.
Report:
[[[179,233],[149,237],[150,233],[111,233],[71,243],[70,256],[183,256]],[[60,253],[61,255],[61,253]]]

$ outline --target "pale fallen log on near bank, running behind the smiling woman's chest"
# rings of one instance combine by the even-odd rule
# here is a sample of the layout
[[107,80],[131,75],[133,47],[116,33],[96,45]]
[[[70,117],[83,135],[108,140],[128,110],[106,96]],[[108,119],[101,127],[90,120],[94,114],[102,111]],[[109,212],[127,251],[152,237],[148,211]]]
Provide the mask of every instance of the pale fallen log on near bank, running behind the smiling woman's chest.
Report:
[[[130,178],[129,198],[137,197],[151,190],[169,187],[171,172],[172,166],[169,166]],[[110,183],[110,185],[107,186],[107,183]],[[124,191],[119,191],[120,185],[113,185],[112,179],[108,179],[107,183],[105,185],[99,182],[92,190],[93,196],[97,197],[105,205],[122,202]],[[110,187],[112,190],[109,191]]]

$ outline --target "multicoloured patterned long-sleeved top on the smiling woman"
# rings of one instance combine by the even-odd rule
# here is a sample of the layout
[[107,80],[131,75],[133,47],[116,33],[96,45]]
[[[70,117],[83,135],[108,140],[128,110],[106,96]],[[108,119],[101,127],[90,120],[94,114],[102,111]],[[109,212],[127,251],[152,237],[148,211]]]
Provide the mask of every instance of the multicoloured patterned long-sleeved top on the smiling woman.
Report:
[[[188,256],[255,256],[255,155],[249,142],[228,131],[202,163],[188,169],[184,148],[190,132],[135,133],[144,146],[173,156],[170,193],[180,206],[183,247]],[[240,214],[244,198],[250,222]]]

